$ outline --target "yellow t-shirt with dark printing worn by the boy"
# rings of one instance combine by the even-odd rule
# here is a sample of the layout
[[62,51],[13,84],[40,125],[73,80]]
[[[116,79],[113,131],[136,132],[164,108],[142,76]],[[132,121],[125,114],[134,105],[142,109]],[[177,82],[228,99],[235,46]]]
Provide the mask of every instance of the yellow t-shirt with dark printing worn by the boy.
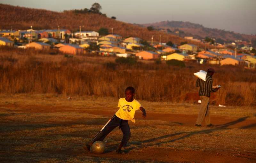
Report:
[[136,110],[139,110],[141,105],[140,102],[133,99],[132,102],[128,102],[125,98],[119,99],[118,106],[119,110],[116,112],[116,116],[123,120],[131,120],[135,123],[134,115]]

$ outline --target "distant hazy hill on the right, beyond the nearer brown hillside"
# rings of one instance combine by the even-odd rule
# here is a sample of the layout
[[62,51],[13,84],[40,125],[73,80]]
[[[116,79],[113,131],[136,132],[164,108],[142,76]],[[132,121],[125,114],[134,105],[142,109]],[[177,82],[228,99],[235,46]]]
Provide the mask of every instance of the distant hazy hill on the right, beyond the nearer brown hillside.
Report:
[[179,36],[193,36],[197,39],[203,39],[207,36],[218,39],[219,41],[223,40],[227,42],[234,40],[250,41],[252,39],[256,39],[255,35],[240,34],[216,28],[206,28],[203,25],[191,22],[162,21],[151,24],[142,24],[141,26],[153,26],[156,29],[164,30],[167,30],[169,28],[172,33],[174,33],[174,31],[178,29],[180,31]]

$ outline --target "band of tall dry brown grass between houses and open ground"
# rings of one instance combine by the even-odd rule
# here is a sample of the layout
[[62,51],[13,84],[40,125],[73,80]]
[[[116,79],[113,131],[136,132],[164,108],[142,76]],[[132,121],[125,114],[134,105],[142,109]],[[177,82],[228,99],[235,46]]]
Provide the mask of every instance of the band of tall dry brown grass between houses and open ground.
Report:
[[[210,65],[186,63],[186,68],[165,63],[139,62],[133,66],[106,67],[114,57],[44,55],[42,52],[0,48],[0,93],[59,93],[123,97],[134,86],[136,98],[148,101],[184,102],[187,93],[196,93],[198,70]],[[256,105],[256,73],[240,67],[215,66],[213,84],[216,104]],[[196,93],[197,94],[197,93]],[[188,99],[187,99],[188,100]]]

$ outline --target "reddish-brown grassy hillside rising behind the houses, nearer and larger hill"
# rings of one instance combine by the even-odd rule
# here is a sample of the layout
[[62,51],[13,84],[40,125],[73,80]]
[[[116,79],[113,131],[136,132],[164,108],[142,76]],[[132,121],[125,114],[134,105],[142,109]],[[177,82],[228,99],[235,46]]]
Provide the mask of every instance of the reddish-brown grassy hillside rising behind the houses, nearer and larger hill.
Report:
[[[187,41],[179,36],[168,34],[160,31],[148,31],[145,27],[124,23],[114,19],[105,17],[104,15],[86,13],[75,14],[72,11],[55,12],[42,9],[31,9],[19,6],[0,4],[0,29],[25,30],[33,26],[33,29],[69,29],[72,32],[77,31],[79,26],[82,30],[98,31],[101,27],[114,28],[114,33],[120,34],[123,37],[140,37],[144,40],[151,40],[154,35],[154,41],[159,41],[160,34],[162,42],[172,41],[175,44],[180,44],[182,41]],[[203,44],[188,41],[201,47]]]

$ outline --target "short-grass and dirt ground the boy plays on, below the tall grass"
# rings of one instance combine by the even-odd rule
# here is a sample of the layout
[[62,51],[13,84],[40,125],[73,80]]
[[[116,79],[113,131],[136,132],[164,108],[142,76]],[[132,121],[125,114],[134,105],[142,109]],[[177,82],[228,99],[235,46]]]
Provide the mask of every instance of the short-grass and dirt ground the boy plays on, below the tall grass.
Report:
[[[199,105],[140,101],[126,154],[116,154],[118,128],[103,154],[83,145],[117,111],[118,99],[0,95],[1,162],[256,162],[256,109],[211,106],[215,128],[195,128]],[[204,126],[204,124],[203,124]]]

